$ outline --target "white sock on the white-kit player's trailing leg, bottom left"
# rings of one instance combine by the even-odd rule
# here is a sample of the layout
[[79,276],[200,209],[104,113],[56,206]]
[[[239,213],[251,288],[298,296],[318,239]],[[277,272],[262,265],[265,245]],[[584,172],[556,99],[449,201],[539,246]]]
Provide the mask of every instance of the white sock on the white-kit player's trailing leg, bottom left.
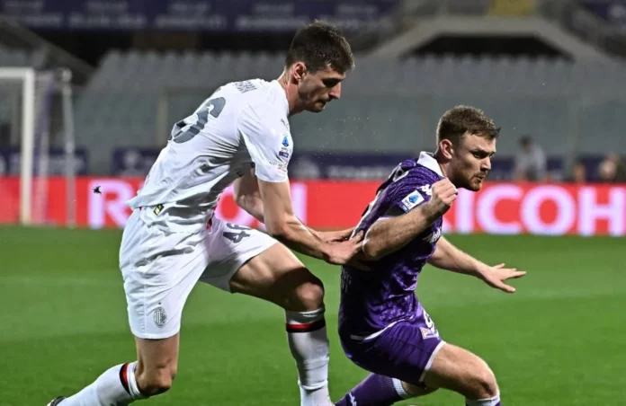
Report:
[[[93,384],[61,402],[62,406],[123,406],[145,399],[137,386],[137,362],[113,366]],[[128,389],[127,389],[128,388]],[[132,393],[132,394],[131,394]]]

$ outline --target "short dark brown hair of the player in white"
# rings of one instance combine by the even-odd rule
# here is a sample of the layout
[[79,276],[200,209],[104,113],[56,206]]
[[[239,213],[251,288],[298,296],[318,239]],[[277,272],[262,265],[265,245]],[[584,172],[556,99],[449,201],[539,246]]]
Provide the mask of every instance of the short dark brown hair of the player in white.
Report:
[[303,62],[312,73],[332,67],[344,74],[354,66],[350,44],[344,35],[326,22],[313,22],[301,28],[291,40],[285,66]]

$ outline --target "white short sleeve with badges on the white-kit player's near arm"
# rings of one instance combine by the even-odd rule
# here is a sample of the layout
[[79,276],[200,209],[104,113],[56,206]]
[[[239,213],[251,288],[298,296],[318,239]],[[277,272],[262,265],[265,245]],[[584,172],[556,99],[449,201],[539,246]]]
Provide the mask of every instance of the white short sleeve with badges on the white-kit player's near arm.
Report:
[[287,165],[293,152],[293,140],[273,106],[248,106],[239,115],[237,129],[255,163],[256,177],[262,181],[288,181]]

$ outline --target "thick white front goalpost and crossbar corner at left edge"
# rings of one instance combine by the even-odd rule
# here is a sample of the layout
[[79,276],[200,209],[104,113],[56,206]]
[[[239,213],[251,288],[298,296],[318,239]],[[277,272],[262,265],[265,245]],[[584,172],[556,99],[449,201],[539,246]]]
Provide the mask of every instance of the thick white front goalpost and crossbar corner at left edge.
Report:
[[22,154],[20,168],[20,223],[31,224],[32,160],[35,137],[35,69],[0,67],[0,79],[22,81]]

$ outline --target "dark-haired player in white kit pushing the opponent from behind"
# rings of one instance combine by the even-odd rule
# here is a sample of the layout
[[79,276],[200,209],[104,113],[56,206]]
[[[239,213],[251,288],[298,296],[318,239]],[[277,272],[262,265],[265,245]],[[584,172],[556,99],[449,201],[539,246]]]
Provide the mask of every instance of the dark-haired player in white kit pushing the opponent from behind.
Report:
[[[352,230],[316,232],[294,216],[288,118],[338,99],[353,54],[339,31],[315,22],[296,33],[285,62],[277,80],[225,84],[174,125],[129,202],[133,212],[121,242],[137,361],[113,366],[49,405],[126,405],[167,391],[176,375],[183,305],[198,280],[282,306],[301,405],[333,404],[324,289],[287,247],[358,265],[362,238],[348,239]],[[233,183],[237,204],[270,235],[213,216],[219,195]]]

